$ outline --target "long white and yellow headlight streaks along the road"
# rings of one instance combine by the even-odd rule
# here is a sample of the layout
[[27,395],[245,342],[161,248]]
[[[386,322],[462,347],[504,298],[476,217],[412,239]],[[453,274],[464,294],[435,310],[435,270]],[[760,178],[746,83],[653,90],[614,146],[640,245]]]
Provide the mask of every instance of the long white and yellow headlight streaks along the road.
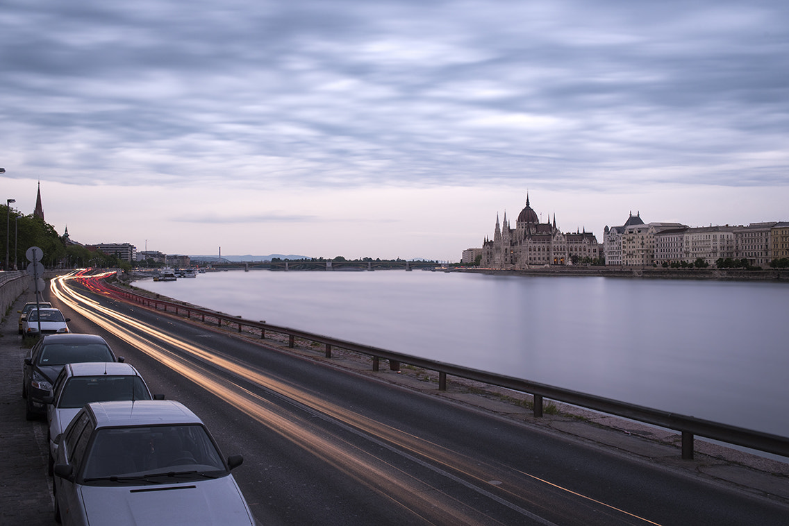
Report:
[[[73,278],[72,274],[56,278],[52,281],[50,287],[52,293],[59,300],[68,304],[69,307],[84,315],[93,323],[102,326],[105,330],[112,332],[118,338],[129,343],[129,345],[133,345],[136,349],[140,349],[148,356],[158,360],[159,363],[183,375],[209,393],[220,397],[230,405],[245,412],[254,420],[263,423],[271,431],[282,436],[282,438],[294,442],[303,450],[323,461],[327,461],[347,476],[352,477],[374,491],[378,491],[389,498],[391,502],[408,509],[411,513],[416,513],[417,516],[428,522],[438,520],[444,523],[450,518],[447,517],[447,513],[451,513],[452,522],[458,522],[458,524],[491,524],[491,517],[484,516],[436,487],[426,486],[421,480],[415,479],[394,465],[372,456],[338,435],[330,434],[324,427],[318,427],[309,420],[294,416],[290,412],[283,414],[282,408],[279,408],[272,401],[253,394],[237,383],[222,379],[219,374],[210,371],[207,367],[201,367],[189,360],[185,360],[181,356],[164,349],[159,343],[151,341],[151,338],[159,340],[165,345],[177,347],[182,352],[211,364],[211,366],[218,368],[219,371],[224,371],[247,382],[252,382],[283,401],[301,406],[301,408],[308,410],[314,416],[319,416],[321,419],[331,423],[342,423],[342,427],[346,431],[372,440],[377,445],[387,448],[387,450],[402,457],[407,457],[410,461],[453,480],[454,483],[461,483],[470,490],[483,494],[500,505],[507,506],[507,508],[512,509],[516,513],[528,517],[529,520],[534,520],[540,524],[552,524],[536,513],[529,512],[514,504],[514,502],[511,502],[512,500],[529,502],[529,505],[544,509],[547,512],[556,512],[555,507],[546,507],[544,498],[539,497],[539,492],[531,496],[525,491],[527,487],[534,486],[539,487],[540,491],[551,491],[553,498],[571,501],[575,505],[578,505],[579,499],[581,502],[587,502],[589,507],[593,508],[590,511],[598,516],[600,513],[611,513],[611,515],[608,515],[608,518],[612,521],[622,521],[627,517],[637,520],[638,524],[660,526],[652,520],[638,517],[633,513],[608,505],[605,502],[580,494],[569,488],[561,487],[529,473],[514,470],[503,464],[482,462],[479,458],[448,450],[434,442],[428,442],[423,438],[410,435],[394,427],[362,416],[357,412],[349,411],[346,408],[324,401],[303,389],[274,379],[261,371],[256,371],[250,368],[248,364],[239,364],[234,360],[219,356],[209,349],[174,338],[162,330],[140,323],[136,319],[104,307],[98,301],[78,293],[66,284],[66,281],[71,278]],[[86,282],[86,285],[88,285],[92,280],[80,279],[80,281]],[[89,286],[89,288],[95,293],[103,293],[99,287]],[[129,327],[133,330],[129,330]],[[140,334],[145,334],[146,336],[143,337]],[[458,475],[455,475],[455,473]],[[473,482],[469,482],[469,479]],[[497,483],[495,486],[491,483],[493,480]],[[528,483],[527,481],[531,482]],[[495,489],[495,493],[492,489]],[[440,510],[438,515],[436,515],[437,509]],[[608,512],[605,510],[608,510]]]

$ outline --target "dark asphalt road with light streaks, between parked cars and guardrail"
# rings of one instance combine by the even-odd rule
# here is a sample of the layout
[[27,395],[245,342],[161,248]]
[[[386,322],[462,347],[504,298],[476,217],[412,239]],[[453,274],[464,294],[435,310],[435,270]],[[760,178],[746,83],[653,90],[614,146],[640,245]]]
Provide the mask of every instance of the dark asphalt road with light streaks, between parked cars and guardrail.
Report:
[[211,429],[261,524],[789,524],[789,509],[54,280]]

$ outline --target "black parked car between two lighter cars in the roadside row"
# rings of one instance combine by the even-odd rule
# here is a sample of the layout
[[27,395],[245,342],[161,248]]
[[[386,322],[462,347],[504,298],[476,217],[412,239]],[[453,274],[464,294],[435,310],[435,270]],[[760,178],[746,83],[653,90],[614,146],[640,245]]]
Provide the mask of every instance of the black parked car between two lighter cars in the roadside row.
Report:
[[47,334],[24,359],[22,397],[27,399],[24,416],[33,420],[47,412],[44,397],[51,396],[54,379],[65,364],[122,361],[107,341],[96,334]]

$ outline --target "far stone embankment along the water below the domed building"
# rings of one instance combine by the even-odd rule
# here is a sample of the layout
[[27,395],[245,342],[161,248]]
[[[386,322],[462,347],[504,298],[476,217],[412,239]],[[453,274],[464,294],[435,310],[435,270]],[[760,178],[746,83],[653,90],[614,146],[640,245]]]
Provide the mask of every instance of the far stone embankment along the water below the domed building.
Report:
[[712,279],[720,281],[789,282],[789,269],[745,270],[664,267],[576,267],[549,266],[524,270],[458,268],[453,272],[499,276],[597,276],[601,278]]

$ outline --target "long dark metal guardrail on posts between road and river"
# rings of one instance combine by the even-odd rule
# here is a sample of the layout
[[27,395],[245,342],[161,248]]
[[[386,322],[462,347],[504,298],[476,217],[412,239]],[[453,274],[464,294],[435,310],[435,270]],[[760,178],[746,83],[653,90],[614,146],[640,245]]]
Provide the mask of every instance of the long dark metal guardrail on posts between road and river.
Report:
[[353,343],[352,341],[339,340],[320,334],[312,334],[290,327],[241,319],[238,316],[225,315],[221,312],[191,307],[159,298],[145,297],[111,284],[107,284],[107,286],[112,289],[115,295],[124,297],[137,304],[142,304],[145,307],[154,308],[155,310],[172,311],[176,315],[185,315],[189,319],[200,318],[200,321],[204,323],[207,318],[209,320],[215,319],[218,326],[222,326],[222,324],[225,326],[237,326],[238,332],[242,332],[245,328],[247,330],[260,330],[260,338],[266,338],[267,332],[285,334],[288,336],[288,346],[290,348],[294,347],[295,338],[317,342],[325,345],[325,356],[327,358],[331,358],[332,348],[347,349],[354,353],[364,354],[372,357],[373,371],[379,370],[381,359],[389,360],[390,367],[393,371],[399,371],[400,364],[409,364],[429,371],[436,371],[439,374],[439,390],[447,389],[447,375],[451,375],[531,394],[534,398],[533,414],[537,417],[543,416],[543,401],[544,398],[548,398],[550,400],[577,405],[582,408],[592,409],[593,411],[603,412],[609,415],[622,416],[630,420],[638,420],[639,422],[666,427],[667,429],[679,431],[681,433],[683,459],[692,459],[694,457],[694,436],[711,438],[712,440],[718,440],[727,444],[734,444],[753,450],[789,457],[789,438],[780,435],[772,435],[761,431],[751,431],[744,427],[716,423],[710,420],[695,418],[694,416],[679,415],[674,412],[660,411],[642,405],[629,404],[623,401],[612,400],[611,398],[580,393],[561,387],[548,386],[538,382],[530,382],[529,380],[514,378],[512,376],[498,375],[469,367],[462,367],[460,365],[447,364],[437,360],[428,360],[418,356],[396,353],[387,349],[380,349],[370,345],[361,345]]

